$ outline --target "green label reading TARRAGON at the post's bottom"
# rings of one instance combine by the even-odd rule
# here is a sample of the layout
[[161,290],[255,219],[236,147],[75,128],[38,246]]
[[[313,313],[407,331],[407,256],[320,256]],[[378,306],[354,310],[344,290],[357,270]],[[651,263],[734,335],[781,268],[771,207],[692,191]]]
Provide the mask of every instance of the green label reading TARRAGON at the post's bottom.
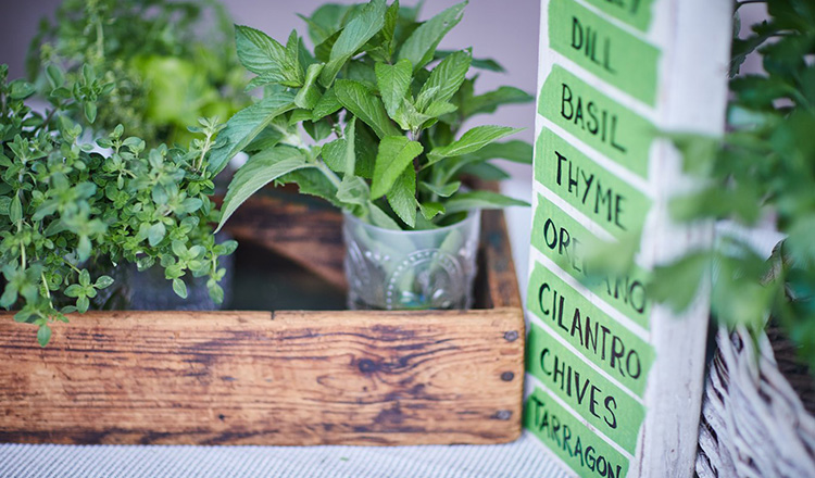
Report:
[[526,401],[524,426],[581,477],[628,474],[628,458],[540,389]]

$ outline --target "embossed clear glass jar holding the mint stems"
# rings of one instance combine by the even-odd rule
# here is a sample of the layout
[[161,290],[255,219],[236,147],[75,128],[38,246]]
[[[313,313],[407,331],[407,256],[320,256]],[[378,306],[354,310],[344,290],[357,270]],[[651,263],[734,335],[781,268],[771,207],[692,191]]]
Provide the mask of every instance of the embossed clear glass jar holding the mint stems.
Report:
[[391,230],[344,214],[348,306],[352,310],[467,309],[480,211],[438,229]]

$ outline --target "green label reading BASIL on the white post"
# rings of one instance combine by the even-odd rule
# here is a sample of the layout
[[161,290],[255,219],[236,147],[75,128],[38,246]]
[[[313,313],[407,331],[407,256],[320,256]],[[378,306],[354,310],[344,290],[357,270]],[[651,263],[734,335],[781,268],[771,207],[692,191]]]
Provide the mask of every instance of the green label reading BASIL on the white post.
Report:
[[543,83],[538,113],[623,167],[648,178],[654,127],[559,65]]

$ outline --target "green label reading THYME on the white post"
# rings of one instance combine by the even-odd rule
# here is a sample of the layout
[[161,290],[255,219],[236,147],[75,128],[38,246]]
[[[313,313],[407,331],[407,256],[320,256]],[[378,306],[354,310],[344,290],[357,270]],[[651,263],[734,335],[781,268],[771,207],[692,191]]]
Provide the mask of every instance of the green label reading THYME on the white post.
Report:
[[642,230],[651,207],[645,194],[546,128],[535,151],[535,178],[617,238]]

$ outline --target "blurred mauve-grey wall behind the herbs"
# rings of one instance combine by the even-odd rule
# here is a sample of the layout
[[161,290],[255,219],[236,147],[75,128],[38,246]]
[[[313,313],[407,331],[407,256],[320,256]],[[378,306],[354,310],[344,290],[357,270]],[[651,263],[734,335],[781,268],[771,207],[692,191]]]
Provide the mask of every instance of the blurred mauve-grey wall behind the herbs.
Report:
[[[353,3],[334,0],[337,3]],[[362,0],[361,0],[362,1]],[[235,22],[261,29],[278,40],[285,40],[292,28],[303,35],[305,23],[296,13],[310,14],[325,0],[223,0]],[[415,4],[416,0],[403,0]],[[457,3],[456,0],[427,0],[421,18]],[[60,0],[0,0],[0,63],[8,63],[10,77],[25,74],[25,52],[34,37],[39,20],[50,15]],[[539,0],[472,0],[461,23],[444,38],[440,48],[473,47],[477,58],[494,58],[506,70],[504,74],[482,72],[476,83],[476,93],[511,85],[530,93],[537,84]],[[532,140],[535,109],[531,103],[506,105],[496,115],[481,116],[469,126],[499,124],[526,128],[519,138]]]

